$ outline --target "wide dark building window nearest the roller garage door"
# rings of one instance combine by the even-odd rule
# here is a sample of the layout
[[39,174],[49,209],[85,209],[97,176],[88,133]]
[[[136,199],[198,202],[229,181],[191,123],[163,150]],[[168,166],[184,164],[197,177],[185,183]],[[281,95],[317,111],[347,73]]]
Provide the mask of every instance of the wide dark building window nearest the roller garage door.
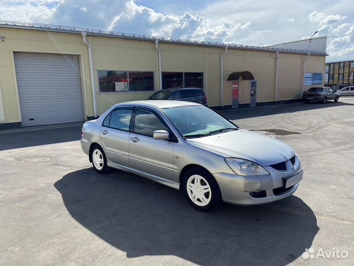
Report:
[[98,70],[100,92],[153,91],[153,72]]

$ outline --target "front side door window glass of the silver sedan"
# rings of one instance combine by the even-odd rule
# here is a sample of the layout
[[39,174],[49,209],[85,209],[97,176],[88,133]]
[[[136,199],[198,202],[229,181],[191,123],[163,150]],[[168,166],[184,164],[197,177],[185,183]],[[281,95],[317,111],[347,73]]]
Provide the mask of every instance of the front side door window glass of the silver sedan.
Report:
[[134,132],[152,136],[156,130],[166,130],[168,128],[153,113],[137,110],[135,114]]

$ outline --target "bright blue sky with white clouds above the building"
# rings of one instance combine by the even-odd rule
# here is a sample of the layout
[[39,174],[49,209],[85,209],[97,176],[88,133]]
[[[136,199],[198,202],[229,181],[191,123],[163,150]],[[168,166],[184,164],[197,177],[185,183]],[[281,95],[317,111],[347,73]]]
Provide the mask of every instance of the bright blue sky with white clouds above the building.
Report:
[[353,0],[0,0],[0,20],[266,46],[327,35],[354,59]]

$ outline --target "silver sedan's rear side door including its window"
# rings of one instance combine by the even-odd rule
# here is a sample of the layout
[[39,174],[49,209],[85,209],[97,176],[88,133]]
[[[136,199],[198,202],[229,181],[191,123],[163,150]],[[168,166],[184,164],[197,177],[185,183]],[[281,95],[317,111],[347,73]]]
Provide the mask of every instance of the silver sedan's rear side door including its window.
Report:
[[118,107],[107,115],[100,129],[100,139],[107,160],[128,166],[128,140],[133,106]]

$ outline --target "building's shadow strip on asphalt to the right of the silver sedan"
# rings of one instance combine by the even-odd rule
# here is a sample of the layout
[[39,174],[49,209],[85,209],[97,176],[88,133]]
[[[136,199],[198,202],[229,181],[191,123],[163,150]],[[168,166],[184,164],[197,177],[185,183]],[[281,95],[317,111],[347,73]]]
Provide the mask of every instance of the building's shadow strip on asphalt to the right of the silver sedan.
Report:
[[251,117],[260,117],[266,115],[275,115],[275,114],[285,114],[285,113],[294,113],[307,111],[312,109],[322,109],[322,108],[331,108],[337,106],[354,106],[354,103],[350,102],[334,102],[327,101],[326,103],[321,102],[310,102],[310,103],[298,103],[298,104],[287,104],[279,103],[255,108],[235,108],[235,109],[226,109],[223,111],[218,111],[221,115],[230,120],[236,119],[245,119]]

